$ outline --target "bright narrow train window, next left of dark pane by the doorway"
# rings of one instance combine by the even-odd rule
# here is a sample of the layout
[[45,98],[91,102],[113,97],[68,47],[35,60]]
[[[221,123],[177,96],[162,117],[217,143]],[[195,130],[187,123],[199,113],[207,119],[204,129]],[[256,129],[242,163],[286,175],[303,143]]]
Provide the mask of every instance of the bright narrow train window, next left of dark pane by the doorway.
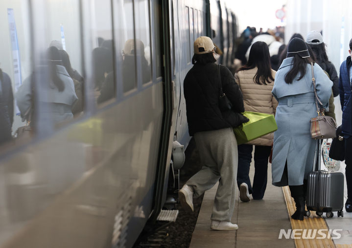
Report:
[[135,56],[138,69],[139,80],[142,83],[151,81],[151,46],[150,46],[150,18],[149,18],[149,0],[135,1],[136,13],[135,15]]

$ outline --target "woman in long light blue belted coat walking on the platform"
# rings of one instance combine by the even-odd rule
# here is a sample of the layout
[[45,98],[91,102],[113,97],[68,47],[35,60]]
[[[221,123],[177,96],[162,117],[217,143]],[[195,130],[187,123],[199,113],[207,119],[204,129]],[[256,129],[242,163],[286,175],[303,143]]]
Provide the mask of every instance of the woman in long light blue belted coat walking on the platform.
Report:
[[[275,116],[278,130],[274,133],[273,185],[289,186],[296,203],[296,212],[291,217],[299,220],[303,220],[305,214],[304,181],[313,170],[317,144],[310,136],[309,121],[318,115],[311,62],[305,41],[292,39],[272,90],[279,102]],[[332,82],[318,64],[314,64],[313,70],[316,91],[323,103],[320,107],[328,108]]]

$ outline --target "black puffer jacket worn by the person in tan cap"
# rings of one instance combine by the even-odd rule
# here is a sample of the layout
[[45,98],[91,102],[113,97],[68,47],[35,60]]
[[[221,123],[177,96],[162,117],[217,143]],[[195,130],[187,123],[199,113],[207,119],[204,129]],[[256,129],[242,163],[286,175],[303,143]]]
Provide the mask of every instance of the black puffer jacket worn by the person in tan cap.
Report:
[[197,132],[236,127],[248,119],[244,112],[243,97],[234,76],[225,66],[220,66],[223,92],[231,101],[232,110],[220,112],[220,84],[215,63],[195,64],[184,81],[188,132]]

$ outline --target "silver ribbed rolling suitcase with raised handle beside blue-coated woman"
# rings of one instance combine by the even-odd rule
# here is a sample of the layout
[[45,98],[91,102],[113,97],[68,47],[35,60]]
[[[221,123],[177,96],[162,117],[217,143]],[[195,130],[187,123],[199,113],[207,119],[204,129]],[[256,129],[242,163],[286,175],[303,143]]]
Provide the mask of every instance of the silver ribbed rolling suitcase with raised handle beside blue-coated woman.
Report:
[[320,170],[321,143],[317,143],[314,165],[318,164],[318,168],[308,174],[306,215],[309,216],[309,210],[313,210],[319,216],[325,212],[331,218],[333,212],[337,211],[337,217],[343,217],[344,174]]

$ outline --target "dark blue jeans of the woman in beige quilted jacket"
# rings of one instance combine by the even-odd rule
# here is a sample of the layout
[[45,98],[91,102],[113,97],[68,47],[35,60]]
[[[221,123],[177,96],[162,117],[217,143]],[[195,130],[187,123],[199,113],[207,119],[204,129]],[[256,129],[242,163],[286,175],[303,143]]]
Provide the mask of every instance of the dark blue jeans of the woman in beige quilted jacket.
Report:
[[238,168],[237,168],[237,186],[242,183],[248,185],[248,191],[252,194],[253,199],[260,200],[264,197],[266,183],[268,179],[268,159],[271,146],[255,145],[254,151],[254,179],[253,187],[249,179],[249,167],[252,162],[253,145],[238,145]]

